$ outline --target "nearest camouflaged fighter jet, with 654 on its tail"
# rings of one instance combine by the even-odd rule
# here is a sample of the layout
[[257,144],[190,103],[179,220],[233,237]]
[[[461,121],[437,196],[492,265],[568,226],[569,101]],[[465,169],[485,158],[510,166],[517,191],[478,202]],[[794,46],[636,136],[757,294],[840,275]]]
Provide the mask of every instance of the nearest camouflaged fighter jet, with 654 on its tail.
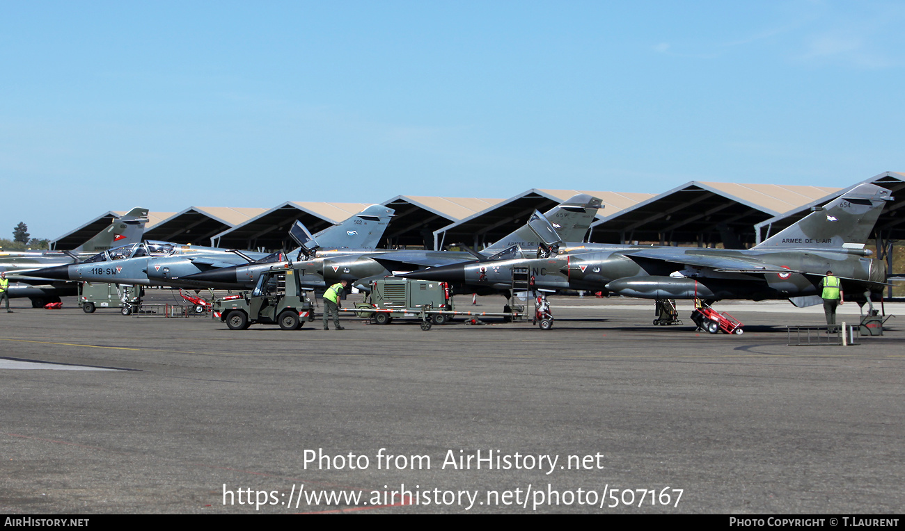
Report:
[[820,302],[827,270],[842,280],[846,298],[865,300],[886,281],[884,262],[864,244],[890,191],[861,184],[750,249],[641,247],[589,251],[533,260],[444,265],[401,275],[506,289],[514,268],[538,289],[608,291],[647,299],[787,298],[796,306]]

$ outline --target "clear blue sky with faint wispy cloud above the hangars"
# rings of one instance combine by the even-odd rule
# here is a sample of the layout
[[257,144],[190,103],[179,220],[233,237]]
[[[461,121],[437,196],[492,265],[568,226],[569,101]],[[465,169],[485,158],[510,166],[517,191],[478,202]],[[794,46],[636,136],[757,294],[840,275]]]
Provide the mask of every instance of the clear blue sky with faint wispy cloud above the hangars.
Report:
[[0,9],[4,238],[134,206],[905,171],[901,2]]

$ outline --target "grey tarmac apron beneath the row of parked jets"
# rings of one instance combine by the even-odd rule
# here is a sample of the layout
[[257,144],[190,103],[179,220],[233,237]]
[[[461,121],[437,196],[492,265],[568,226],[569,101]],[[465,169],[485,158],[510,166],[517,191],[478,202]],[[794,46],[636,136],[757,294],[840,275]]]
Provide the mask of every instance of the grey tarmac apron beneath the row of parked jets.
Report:
[[[690,303],[678,326],[653,326],[649,302],[551,303],[550,331],[352,315],[345,331],[231,331],[14,300],[0,311],[0,513],[905,507],[900,318],[854,346],[787,346],[786,325],[820,326],[822,308],[720,303],[745,333],[711,335]],[[857,319],[843,305],[840,321]]]

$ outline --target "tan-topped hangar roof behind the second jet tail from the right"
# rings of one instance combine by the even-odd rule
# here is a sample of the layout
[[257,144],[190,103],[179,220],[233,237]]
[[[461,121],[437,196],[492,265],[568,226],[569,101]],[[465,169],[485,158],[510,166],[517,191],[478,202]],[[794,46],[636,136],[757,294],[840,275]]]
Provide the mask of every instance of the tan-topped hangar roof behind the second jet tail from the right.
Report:
[[438,246],[464,242],[475,248],[486,247],[519,228],[534,210],[545,212],[579,193],[586,193],[603,201],[604,209],[597,211],[598,219],[603,218],[605,213],[624,210],[653,197],[651,193],[532,188],[434,231],[434,238]]

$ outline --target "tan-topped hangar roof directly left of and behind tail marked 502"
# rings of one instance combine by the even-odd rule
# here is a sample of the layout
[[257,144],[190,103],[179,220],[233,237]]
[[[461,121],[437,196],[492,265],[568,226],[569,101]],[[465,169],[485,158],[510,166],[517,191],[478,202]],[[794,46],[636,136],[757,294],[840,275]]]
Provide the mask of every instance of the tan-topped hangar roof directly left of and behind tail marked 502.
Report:
[[217,247],[240,249],[296,247],[289,237],[289,228],[296,219],[315,233],[341,223],[369,206],[370,203],[286,201],[212,235],[211,242]]

